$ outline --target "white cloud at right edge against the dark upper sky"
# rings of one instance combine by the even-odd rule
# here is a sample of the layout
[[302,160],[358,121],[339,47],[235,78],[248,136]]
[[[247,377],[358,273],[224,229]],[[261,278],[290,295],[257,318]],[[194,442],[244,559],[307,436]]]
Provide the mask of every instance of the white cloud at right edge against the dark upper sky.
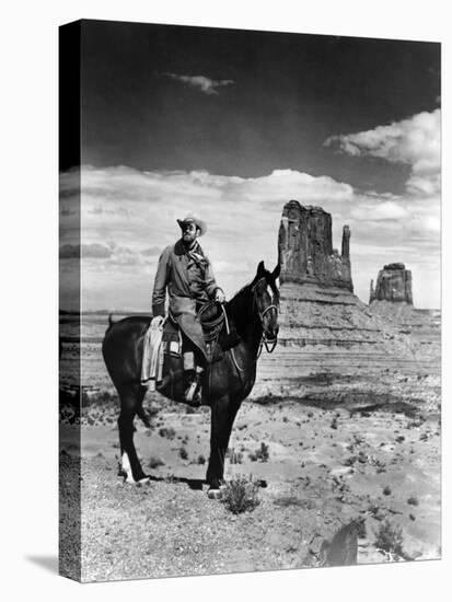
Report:
[[406,190],[413,196],[440,193],[441,109],[358,134],[331,136],[324,146],[351,157],[378,157],[412,166]]

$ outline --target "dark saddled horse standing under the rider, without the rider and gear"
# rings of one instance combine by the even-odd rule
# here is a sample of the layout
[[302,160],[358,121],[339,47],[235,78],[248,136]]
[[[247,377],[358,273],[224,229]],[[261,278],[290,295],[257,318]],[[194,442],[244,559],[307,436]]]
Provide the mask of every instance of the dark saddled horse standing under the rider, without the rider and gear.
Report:
[[[204,378],[202,397],[211,408],[210,459],[206,477],[209,490],[218,489],[223,483],[224,454],[232,424],[241,403],[253,389],[262,345],[264,343],[269,350],[268,345],[275,345],[277,340],[278,276],[279,265],[270,273],[260,262],[253,281],[224,304],[229,328],[235,331],[237,343],[208,367]],[[120,398],[121,464],[130,483],[149,478],[135,449],[134,418],[138,416],[150,426],[142,408],[146,389],[140,384],[143,337],[150,320],[148,316],[130,316],[111,323],[102,346],[105,364]],[[170,389],[161,392],[171,396]]]

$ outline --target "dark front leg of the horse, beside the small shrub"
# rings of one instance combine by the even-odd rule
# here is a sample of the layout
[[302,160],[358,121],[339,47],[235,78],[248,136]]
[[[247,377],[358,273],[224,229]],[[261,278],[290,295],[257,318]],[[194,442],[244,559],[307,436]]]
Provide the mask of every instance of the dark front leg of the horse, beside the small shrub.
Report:
[[229,395],[212,403],[210,424],[210,459],[206,481],[209,490],[217,490],[223,483],[224,456],[231,437],[232,425],[240,403]]

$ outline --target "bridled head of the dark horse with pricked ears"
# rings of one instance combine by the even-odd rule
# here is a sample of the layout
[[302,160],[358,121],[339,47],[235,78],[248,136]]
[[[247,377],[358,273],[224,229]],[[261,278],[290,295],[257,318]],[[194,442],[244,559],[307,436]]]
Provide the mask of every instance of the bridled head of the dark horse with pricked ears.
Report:
[[273,271],[268,271],[265,268],[264,262],[260,262],[252,282],[252,290],[264,331],[263,339],[266,347],[267,344],[275,346],[278,338],[279,290],[277,279],[279,271],[279,264]]

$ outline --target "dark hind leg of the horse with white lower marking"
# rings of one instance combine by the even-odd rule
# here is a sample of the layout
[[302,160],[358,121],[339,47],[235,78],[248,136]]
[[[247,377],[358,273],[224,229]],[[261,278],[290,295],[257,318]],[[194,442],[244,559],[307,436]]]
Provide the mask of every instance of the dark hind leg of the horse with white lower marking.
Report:
[[143,482],[148,477],[142,471],[134,444],[134,418],[141,407],[146,390],[139,384],[120,387],[120,413],[118,418],[120,462],[127,483]]

